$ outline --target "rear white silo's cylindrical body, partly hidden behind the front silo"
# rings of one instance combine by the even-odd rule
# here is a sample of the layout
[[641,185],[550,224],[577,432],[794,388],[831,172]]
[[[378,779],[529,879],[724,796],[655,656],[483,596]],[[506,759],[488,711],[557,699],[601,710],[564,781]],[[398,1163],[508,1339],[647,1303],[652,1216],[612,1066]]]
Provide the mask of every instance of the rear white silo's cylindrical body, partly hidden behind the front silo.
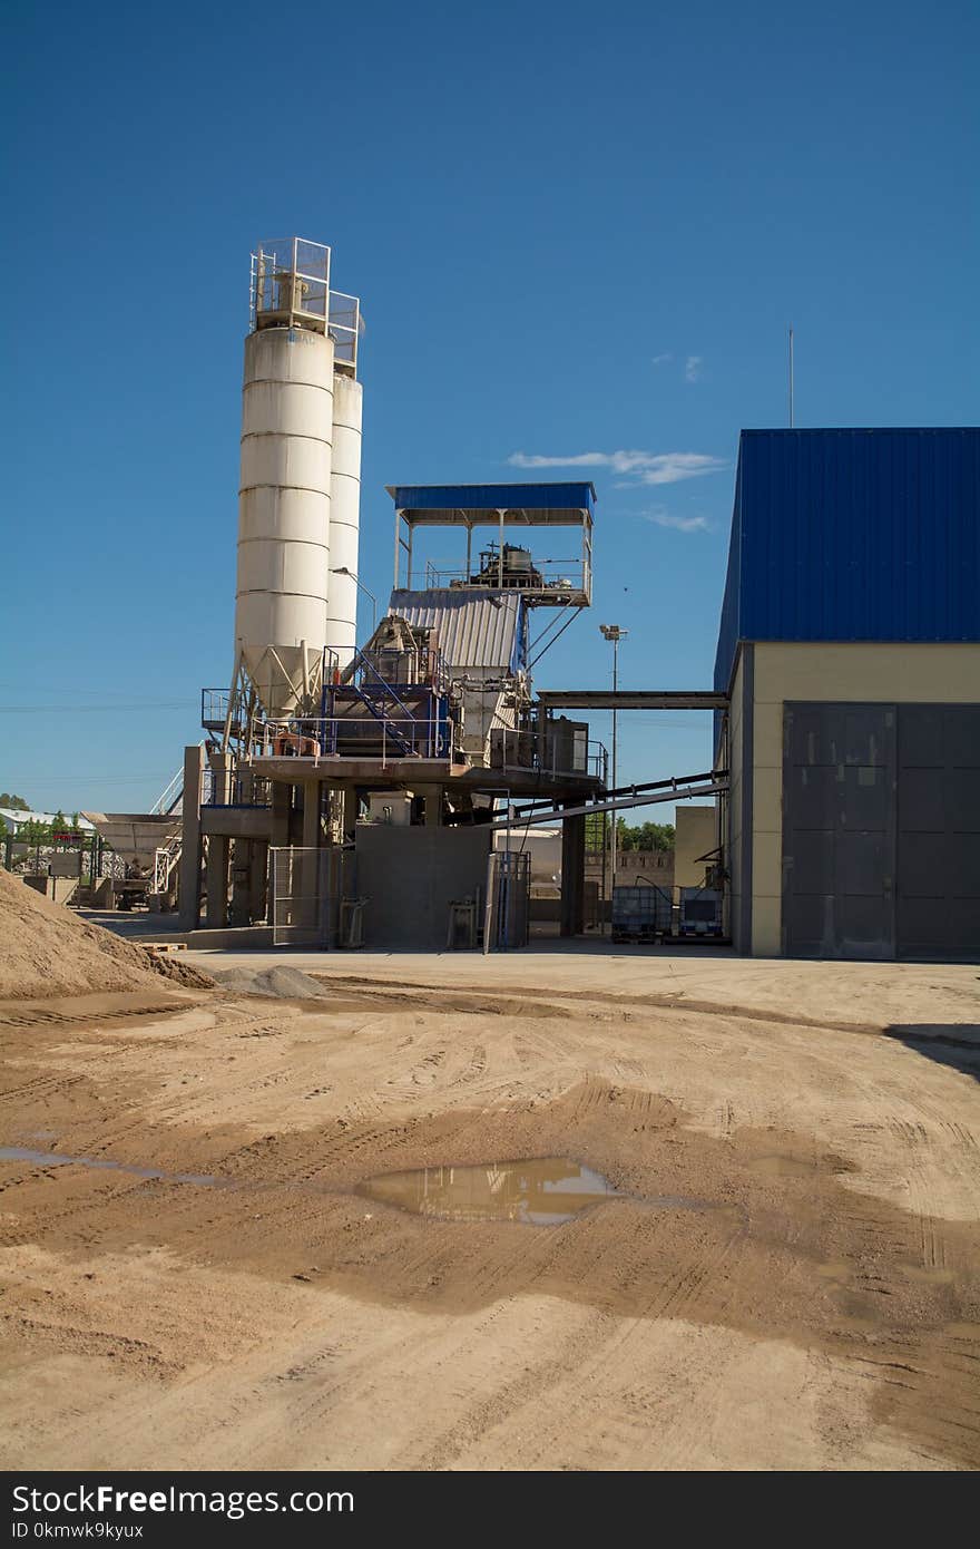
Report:
[[333,383],[333,466],[330,472],[330,586],[327,644],[341,668],[358,643],[358,547],[361,528],[361,383],[338,373]]

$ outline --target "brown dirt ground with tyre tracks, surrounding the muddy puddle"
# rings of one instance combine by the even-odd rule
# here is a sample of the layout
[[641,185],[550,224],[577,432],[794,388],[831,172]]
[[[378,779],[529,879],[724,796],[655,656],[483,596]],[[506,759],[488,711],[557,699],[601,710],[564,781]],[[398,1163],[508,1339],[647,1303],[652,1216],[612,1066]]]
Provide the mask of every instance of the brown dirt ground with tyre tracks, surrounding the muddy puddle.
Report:
[[[0,1464],[980,1464],[977,967],[282,962],[0,1005],[0,1145],[88,1159],[0,1160]],[[619,1196],[358,1193],[533,1156]]]

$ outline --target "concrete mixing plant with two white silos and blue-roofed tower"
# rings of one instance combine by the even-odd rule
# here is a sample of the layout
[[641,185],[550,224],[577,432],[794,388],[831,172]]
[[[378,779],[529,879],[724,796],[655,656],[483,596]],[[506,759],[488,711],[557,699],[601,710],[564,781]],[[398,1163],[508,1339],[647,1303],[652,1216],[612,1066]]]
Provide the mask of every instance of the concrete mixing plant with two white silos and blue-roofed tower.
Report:
[[[252,256],[231,691],[186,750],[180,911],[212,940],[523,945],[529,853],[511,796],[571,804],[562,929],[584,912],[588,728],[534,703],[531,669],[591,601],[590,483],[399,486],[387,613],[358,646],[359,302],[330,249]],[[537,542],[574,553],[540,558]],[[440,533],[458,553],[423,564]],[[505,816],[500,818],[500,809]],[[161,875],[169,886],[170,877]]]

